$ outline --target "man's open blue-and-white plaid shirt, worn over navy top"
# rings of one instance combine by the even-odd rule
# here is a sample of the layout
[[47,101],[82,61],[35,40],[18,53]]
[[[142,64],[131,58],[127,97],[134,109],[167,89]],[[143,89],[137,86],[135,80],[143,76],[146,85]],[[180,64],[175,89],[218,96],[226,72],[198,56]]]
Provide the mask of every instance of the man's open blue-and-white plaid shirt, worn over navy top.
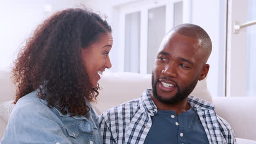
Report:
[[[158,113],[151,89],[139,99],[128,101],[102,113],[100,129],[103,143],[144,143],[152,125],[150,116]],[[194,108],[205,128],[210,144],[236,143],[234,132],[225,119],[216,115],[214,105],[189,95],[188,103]]]

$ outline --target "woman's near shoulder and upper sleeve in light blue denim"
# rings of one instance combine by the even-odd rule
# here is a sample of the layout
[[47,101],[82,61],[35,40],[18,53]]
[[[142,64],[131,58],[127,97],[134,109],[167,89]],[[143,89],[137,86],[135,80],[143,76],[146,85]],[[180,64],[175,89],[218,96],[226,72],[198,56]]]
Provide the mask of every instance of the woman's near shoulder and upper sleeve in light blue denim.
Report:
[[10,114],[2,143],[69,143],[63,135],[64,125],[52,110],[36,91],[20,98]]

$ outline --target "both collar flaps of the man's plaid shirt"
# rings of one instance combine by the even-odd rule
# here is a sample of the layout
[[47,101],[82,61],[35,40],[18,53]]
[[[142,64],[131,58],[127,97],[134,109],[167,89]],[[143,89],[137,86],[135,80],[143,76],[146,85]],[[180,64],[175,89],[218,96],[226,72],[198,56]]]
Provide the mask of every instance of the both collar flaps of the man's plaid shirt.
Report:
[[[156,113],[158,113],[158,110],[150,94],[152,94],[152,89],[146,89],[142,93],[141,97],[139,98],[139,106],[141,107],[142,111],[147,111],[152,116],[154,116]],[[214,110],[213,104],[200,98],[194,97],[193,95],[188,96],[188,103],[195,109]]]

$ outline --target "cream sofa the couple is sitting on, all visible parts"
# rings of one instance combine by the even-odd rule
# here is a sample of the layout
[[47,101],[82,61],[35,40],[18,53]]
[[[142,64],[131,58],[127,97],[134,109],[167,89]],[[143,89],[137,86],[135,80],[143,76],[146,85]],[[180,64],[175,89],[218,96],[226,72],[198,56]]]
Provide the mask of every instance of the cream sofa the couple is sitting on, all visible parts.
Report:
[[[0,69],[0,139],[14,107],[15,85],[8,69]],[[98,114],[139,98],[146,88],[151,88],[151,75],[137,73],[103,73],[99,81],[101,90],[97,101],[92,103]],[[236,135],[237,143],[256,144],[256,98],[218,97],[207,90],[206,80],[199,81],[191,93],[215,105],[217,115],[226,119]]]

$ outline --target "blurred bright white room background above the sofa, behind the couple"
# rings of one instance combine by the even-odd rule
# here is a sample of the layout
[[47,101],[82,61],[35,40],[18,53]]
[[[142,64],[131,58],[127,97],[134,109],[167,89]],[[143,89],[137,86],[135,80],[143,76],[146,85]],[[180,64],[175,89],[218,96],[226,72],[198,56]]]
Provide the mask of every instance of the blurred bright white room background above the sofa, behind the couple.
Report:
[[[0,68],[11,69],[26,39],[46,17],[83,5],[106,17],[112,26],[113,67],[108,71],[151,74],[164,35],[181,23],[194,23],[206,30],[213,43],[207,76],[212,96],[255,97],[254,0],[0,1]],[[252,26],[243,27],[245,23]]]

